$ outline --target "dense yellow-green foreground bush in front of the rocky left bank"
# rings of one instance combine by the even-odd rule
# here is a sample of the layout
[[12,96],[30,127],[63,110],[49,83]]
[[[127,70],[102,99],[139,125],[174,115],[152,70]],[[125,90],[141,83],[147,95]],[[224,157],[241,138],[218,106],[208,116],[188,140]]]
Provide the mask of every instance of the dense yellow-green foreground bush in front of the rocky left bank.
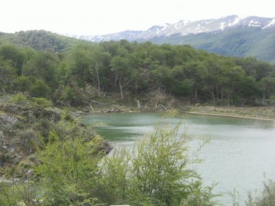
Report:
[[39,150],[43,164],[35,170],[42,176],[43,205],[81,205],[93,201],[102,157],[98,141],[98,137],[84,141],[78,134],[74,139],[61,140],[56,133],[50,133],[49,142],[42,143],[43,150]]

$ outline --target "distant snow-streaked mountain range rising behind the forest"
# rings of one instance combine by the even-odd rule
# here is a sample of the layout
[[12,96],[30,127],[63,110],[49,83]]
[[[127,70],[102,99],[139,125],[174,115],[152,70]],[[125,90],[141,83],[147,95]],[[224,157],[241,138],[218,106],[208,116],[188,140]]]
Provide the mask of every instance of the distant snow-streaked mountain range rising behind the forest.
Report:
[[188,44],[196,49],[227,56],[253,56],[275,64],[275,18],[224,16],[220,19],[178,21],[154,25],[146,31],[126,30],[98,36],[75,36],[85,41],[151,41]]

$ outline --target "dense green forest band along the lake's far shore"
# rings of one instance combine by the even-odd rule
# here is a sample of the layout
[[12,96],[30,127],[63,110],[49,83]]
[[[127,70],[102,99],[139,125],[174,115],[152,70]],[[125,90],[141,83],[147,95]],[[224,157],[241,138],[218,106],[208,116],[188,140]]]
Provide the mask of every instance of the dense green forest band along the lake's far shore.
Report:
[[254,58],[125,40],[79,41],[59,50],[42,44],[39,50],[1,44],[1,92],[50,98],[61,106],[83,104],[87,91],[120,93],[122,102],[125,95],[159,91],[190,104],[274,104],[275,67]]

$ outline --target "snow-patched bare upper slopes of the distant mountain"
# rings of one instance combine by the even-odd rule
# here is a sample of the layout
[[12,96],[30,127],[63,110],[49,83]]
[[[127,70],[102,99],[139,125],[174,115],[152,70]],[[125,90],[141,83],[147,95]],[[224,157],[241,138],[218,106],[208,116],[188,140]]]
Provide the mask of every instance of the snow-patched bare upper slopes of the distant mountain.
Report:
[[120,41],[126,39],[128,41],[144,41],[153,37],[171,36],[173,34],[187,35],[199,34],[203,32],[217,32],[232,30],[236,27],[261,27],[261,29],[269,29],[275,27],[275,18],[265,18],[258,16],[248,16],[240,18],[236,15],[223,16],[220,19],[204,19],[201,21],[178,21],[177,23],[164,23],[162,25],[153,25],[146,31],[126,30],[115,34],[104,34],[98,36],[71,36],[87,41]]

